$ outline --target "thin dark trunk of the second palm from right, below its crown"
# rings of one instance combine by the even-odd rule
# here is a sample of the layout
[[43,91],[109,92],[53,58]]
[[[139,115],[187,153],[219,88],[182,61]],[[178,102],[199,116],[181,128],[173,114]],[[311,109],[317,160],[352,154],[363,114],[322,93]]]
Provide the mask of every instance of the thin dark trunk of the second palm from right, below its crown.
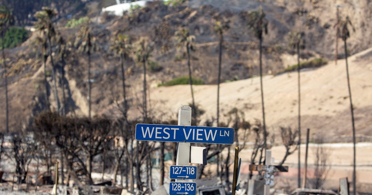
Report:
[[[297,75],[298,75],[298,188],[301,186],[301,84],[300,84],[300,46],[297,43]],[[283,159],[284,162],[284,159]]]

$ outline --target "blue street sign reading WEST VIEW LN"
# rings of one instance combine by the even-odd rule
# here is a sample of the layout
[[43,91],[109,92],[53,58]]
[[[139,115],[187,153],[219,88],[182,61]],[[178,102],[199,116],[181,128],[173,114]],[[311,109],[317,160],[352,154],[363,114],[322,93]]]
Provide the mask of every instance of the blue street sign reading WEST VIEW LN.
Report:
[[137,124],[136,140],[232,144],[234,129],[164,124]]

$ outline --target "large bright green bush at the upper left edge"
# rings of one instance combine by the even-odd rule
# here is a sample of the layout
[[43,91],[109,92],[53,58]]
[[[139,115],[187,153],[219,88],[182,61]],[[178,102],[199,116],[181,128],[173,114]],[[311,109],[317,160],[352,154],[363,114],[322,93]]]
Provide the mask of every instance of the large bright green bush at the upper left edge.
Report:
[[24,27],[12,26],[5,33],[4,38],[0,40],[0,48],[2,44],[4,44],[4,48],[14,48],[27,40],[27,38],[28,33]]

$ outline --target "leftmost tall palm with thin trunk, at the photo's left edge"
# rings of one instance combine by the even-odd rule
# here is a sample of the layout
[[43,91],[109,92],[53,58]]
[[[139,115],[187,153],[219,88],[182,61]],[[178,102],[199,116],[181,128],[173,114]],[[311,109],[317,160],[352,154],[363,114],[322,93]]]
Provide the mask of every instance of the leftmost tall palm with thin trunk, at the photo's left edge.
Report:
[[[4,38],[5,32],[9,29],[9,26],[13,25],[13,14],[6,6],[0,6],[0,33],[1,38]],[[7,78],[7,67],[4,53],[4,40],[1,41],[1,54],[3,57],[4,77],[5,77],[5,104],[6,104],[6,122],[5,130],[9,132],[9,100],[8,100],[8,78]]]

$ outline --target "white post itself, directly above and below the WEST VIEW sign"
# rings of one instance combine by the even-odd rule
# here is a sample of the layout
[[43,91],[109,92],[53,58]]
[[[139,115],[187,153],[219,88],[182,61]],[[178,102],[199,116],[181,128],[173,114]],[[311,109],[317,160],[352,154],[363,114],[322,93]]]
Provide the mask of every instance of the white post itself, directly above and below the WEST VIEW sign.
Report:
[[[191,126],[191,107],[183,105],[178,108],[178,125]],[[176,165],[189,165],[190,143],[179,143]]]

